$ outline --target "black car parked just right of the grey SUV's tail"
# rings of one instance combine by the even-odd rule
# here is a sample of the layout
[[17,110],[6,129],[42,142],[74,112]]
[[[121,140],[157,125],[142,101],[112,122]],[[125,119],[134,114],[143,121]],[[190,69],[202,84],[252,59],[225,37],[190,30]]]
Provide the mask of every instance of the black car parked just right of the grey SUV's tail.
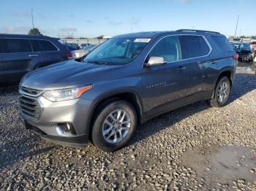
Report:
[[230,42],[233,50],[238,54],[238,61],[253,63],[255,53],[252,51],[249,44],[244,42]]

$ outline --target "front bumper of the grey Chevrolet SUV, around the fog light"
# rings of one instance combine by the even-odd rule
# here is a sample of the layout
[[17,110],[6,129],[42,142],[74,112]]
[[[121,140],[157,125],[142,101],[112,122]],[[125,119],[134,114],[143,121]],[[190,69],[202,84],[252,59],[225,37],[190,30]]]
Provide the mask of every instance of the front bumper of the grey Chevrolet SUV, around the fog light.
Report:
[[[91,101],[80,98],[51,102],[43,97],[38,97],[37,101],[41,108],[38,119],[20,112],[20,119],[27,129],[56,144],[85,147],[89,143],[87,124]],[[72,133],[60,133],[59,124],[66,123],[72,124]]]

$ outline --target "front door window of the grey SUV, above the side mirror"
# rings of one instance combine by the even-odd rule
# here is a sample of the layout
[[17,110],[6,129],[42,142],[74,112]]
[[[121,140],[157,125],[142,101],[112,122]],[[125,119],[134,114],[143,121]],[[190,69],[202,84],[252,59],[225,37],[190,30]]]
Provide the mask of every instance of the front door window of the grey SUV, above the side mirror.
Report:
[[167,36],[160,40],[148,54],[148,59],[151,56],[163,57],[167,62],[181,60],[181,49],[178,43],[178,37]]

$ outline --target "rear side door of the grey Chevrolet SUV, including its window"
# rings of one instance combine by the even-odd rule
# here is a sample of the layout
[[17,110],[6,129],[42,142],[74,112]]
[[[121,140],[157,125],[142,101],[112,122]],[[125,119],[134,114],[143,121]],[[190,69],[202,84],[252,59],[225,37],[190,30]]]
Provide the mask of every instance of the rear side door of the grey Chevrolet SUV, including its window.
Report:
[[179,39],[182,56],[188,64],[188,101],[197,101],[208,96],[203,86],[207,86],[207,78],[214,78],[216,75],[208,58],[211,47],[207,44],[205,37],[200,35],[181,35]]

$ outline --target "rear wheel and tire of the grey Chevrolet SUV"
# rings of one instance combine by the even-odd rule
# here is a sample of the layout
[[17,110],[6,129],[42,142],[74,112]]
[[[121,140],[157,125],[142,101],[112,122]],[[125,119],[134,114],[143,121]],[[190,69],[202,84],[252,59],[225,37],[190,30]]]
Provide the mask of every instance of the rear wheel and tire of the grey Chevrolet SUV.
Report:
[[[223,88],[223,84],[225,84],[225,87],[227,87],[227,90],[225,90],[225,95],[223,95],[223,92],[219,93],[221,92],[221,88]],[[227,77],[222,77],[221,79],[219,79],[214,89],[214,98],[209,99],[208,104],[214,107],[222,107],[227,105],[228,98],[230,96],[230,90],[231,90],[230,79],[228,79]],[[221,95],[225,96],[222,98],[222,101],[220,98]]]

